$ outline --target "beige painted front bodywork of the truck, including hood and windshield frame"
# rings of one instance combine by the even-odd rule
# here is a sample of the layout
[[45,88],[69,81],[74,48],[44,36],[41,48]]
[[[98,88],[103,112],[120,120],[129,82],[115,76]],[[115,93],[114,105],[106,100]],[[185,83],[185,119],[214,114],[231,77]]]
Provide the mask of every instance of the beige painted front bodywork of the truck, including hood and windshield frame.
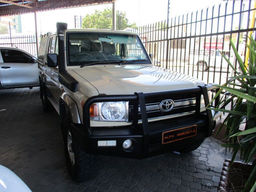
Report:
[[[67,32],[106,32],[106,33],[121,33],[136,35],[136,33],[127,31],[111,31],[111,30],[96,30],[96,29],[68,29],[64,31],[64,44],[66,44]],[[144,45],[142,44],[145,50]],[[65,55],[66,47],[65,47]],[[148,58],[149,55],[146,52]],[[147,64],[96,64],[92,66],[67,66],[67,57],[65,57],[67,73],[74,77],[78,82],[77,92],[71,92],[66,87],[62,86],[62,93],[69,95],[69,97],[76,103],[80,122],[83,124],[83,105],[88,98],[99,94],[107,95],[124,95],[134,94],[134,92],[158,92],[165,90],[175,90],[184,88],[193,88],[205,83],[194,77],[190,77],[181,73],[170,71],[167,69],[155,67],[151,60]],[[205,108],[201,108],[205,110]],[[194,112],[190,112],[193,114]],[[72,115],[77,115],[74,113]],[[149,119],[148,121],[158,121],[167,118],[186,116],[186,114],[177,114],[175,116],[163,116],[156,119]],[[79,121],[78,121],[79,122]],[[139,122],[141,123],[141,122]],[[91,126],[122,126],[130,125],[131,122],[111,122],[111,121],[93,121]]]

